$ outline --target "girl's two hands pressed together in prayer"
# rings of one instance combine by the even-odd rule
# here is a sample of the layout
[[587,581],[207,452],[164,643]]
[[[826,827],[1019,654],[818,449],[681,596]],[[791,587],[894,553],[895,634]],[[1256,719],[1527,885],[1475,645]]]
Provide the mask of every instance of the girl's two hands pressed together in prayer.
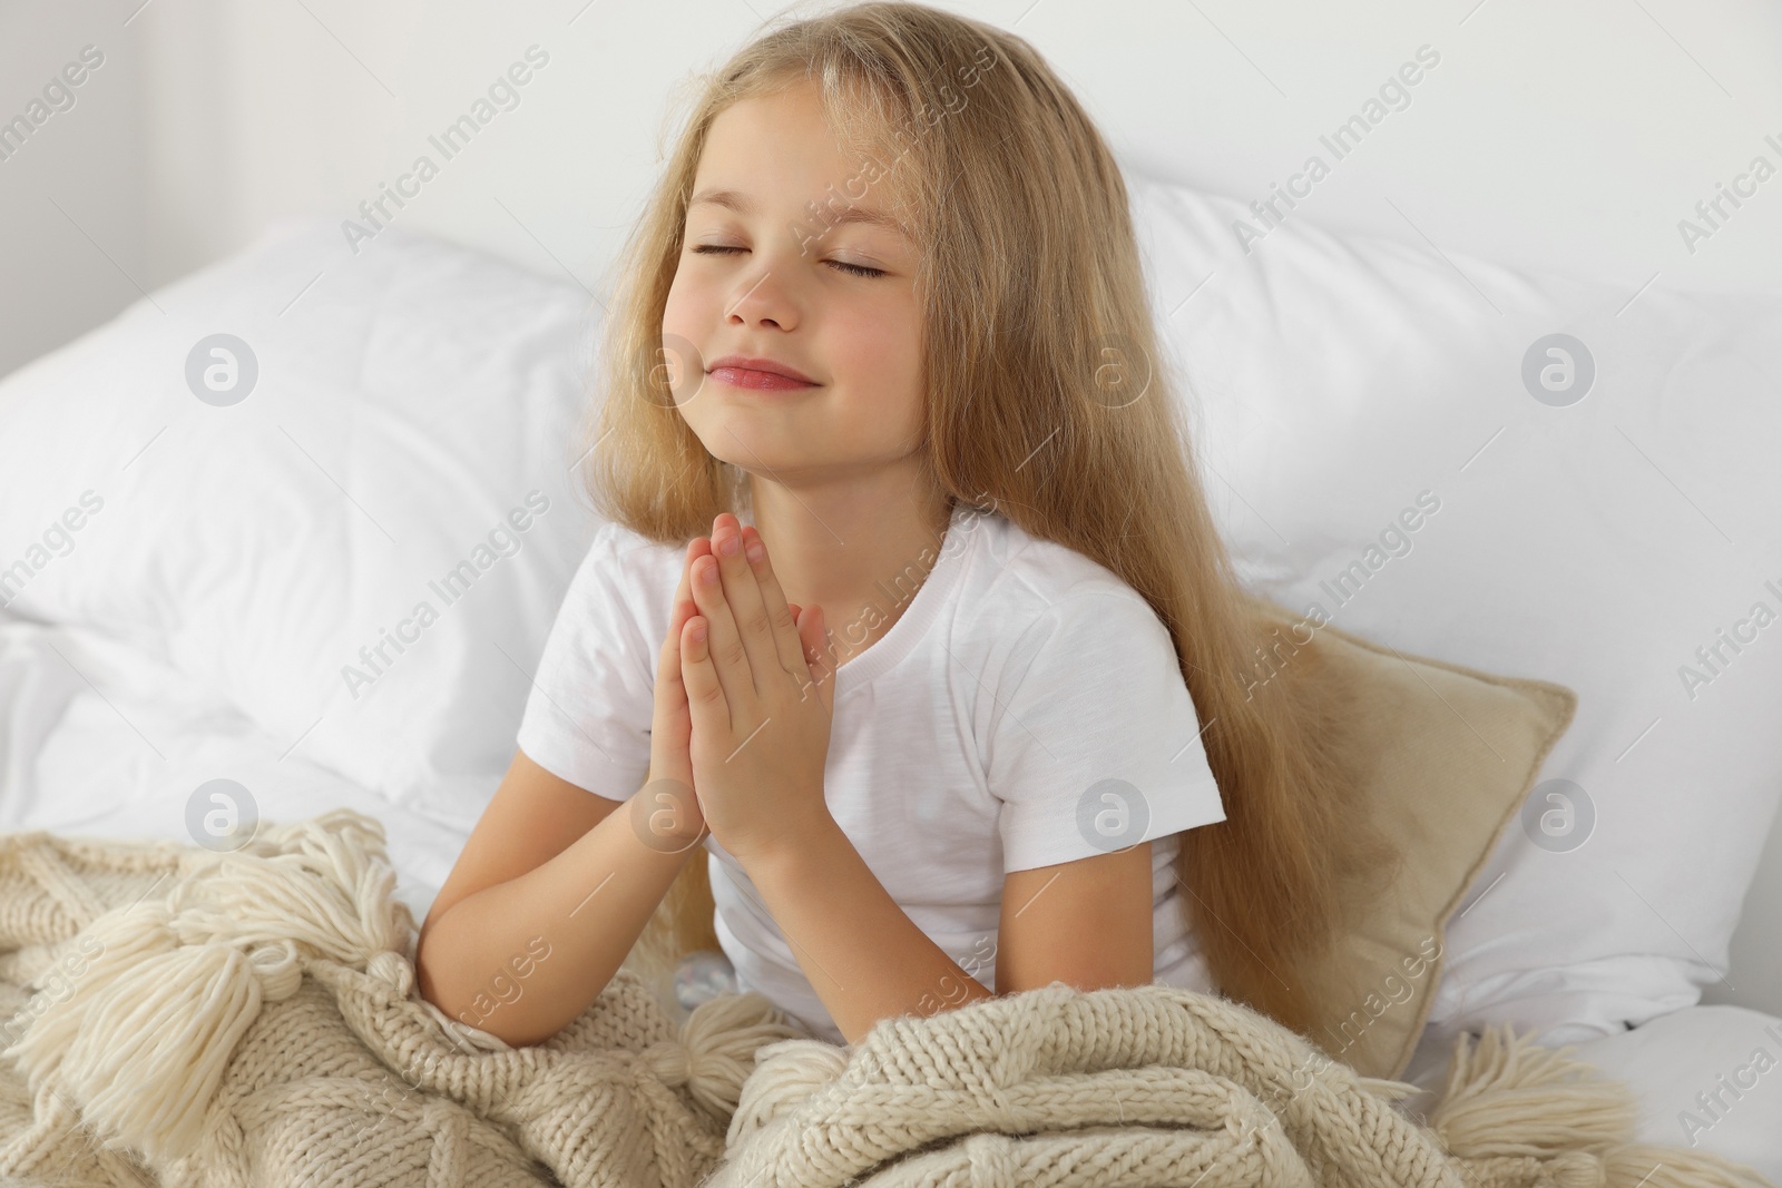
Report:
[[709,828],[747,866],[816,835],[834,696],[823,607],[786,602],[761,534],[720,513],[688,541],[656,663],[645,841]]

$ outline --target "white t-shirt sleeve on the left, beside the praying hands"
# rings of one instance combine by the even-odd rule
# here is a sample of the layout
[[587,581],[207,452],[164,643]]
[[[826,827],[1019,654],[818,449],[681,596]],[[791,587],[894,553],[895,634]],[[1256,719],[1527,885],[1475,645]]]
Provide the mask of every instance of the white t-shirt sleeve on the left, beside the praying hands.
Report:
[[629,800],[650,769],[656,652],[631,611],[618,529],[595,533],[538,657],[519,748],[545,771]]

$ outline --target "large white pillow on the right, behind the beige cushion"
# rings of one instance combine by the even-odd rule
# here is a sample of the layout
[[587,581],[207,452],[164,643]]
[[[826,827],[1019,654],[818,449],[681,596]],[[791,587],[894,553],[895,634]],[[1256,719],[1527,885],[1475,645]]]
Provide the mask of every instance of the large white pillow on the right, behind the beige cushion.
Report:
[[[1436,1035],[1515,1019],[1570,1042],[1696,1003],[1782,796],[1782,622],[1743,627],[1718,675],[1696,657],[1782,611],[1782,294],[1529,276],[1128,180],[1244,579],[1579,695],[1449,926]],[[1247,253],[1240,221],[1267,230]],[[1549,335],[1588,351],[1570,388],[1543,387],[1568,374]]]

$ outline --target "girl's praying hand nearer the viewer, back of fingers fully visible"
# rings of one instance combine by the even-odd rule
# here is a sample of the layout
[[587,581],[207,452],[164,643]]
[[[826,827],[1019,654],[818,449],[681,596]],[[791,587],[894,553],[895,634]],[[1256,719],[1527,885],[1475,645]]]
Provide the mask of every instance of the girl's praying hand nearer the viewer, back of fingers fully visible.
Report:
[[793,614],[761,534],[725,511],[711,545],[693,563],[699,614],[681,629],[681,679],[700,812],[747,866],[832,823],[823,764],[836,671],[823,609]]

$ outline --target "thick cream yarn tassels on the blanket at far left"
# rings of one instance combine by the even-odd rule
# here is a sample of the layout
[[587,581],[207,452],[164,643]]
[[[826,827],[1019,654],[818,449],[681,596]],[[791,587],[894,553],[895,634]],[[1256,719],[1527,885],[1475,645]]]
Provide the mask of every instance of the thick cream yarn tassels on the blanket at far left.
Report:
[[80,939],[86,969],[71,989],[37,990],[36,1021],[5,1054],[34,1094],[80,1103],[107,1145],[157,1161],[189,1154],[262,1003],[298,992],[299,949],[358,967],[401,951],[413,917],[394,885],[374,818],[340,809],[267,825],[166,899],[93,921]]

